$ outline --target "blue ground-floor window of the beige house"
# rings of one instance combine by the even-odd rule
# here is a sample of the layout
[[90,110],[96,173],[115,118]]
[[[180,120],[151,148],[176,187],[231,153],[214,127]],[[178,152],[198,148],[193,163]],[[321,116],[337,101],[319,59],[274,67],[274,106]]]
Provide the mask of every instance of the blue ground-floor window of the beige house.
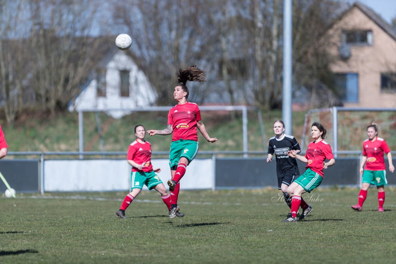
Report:
[[358,74],[335,74],[335,90],[339,98],[345,103],[358,103]]

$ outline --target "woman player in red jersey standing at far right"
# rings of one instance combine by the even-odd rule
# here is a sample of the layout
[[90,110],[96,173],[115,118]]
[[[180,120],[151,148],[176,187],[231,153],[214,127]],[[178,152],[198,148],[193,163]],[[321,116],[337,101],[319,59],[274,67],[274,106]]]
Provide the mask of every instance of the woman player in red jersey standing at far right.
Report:
[[[383,212],[385,201],[384,185],[388,184],[386,180],[386,168],[384,161],[384,152],[389,162],[389,171],[394,172],[395,167],[392,163],[392,154],[385,139],[378,137],[378,129],[375,123],[367,127],[368,139],[363,141],[363,156],[360,163],[360,174],[363,174],[362,190],[359,192],[358,203],[352,205],[352,209],[362,211],[364,200],[367,198],[367,190],[370,184],[376,185],[378,190],[378,211]],[[364,164],[366,166],[363,169]]]

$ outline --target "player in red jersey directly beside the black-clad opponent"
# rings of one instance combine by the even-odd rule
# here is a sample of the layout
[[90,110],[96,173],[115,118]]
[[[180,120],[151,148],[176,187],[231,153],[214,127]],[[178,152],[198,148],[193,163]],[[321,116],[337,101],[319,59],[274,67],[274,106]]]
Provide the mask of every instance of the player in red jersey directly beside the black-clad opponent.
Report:
[[[301,195],[305,192],[310,193],[314,188],[318,187],[323,180],[323,169],[327,169],[327,167],[335,164],[331,147],[324,141],[324,139],[326,139],[326,132],[327,130],[324,129],[322,124],[317,122],[312,123],[311,135],[314,141],[308,145],[305,156],[298,155],[296,150],[287,152],[287,155],[307,163],[307,166],[305,167],[305,173],[287,187],[287,193],[289,196],[293,196],[291,199],[292,216],[287,217],[285,220],[282,220],[282,222],[296,222],[297,211],[300,205],[303,209],[303,213],[299,220],[303,220],[312,212],[312,207],[310,207],[304,199],[301,199]],[[324,162],[326,159],[328,161]]]

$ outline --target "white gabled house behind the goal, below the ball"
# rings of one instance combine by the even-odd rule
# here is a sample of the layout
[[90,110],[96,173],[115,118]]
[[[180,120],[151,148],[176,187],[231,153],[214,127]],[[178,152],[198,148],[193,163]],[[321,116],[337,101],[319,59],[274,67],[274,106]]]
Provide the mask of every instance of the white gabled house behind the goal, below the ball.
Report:
[[69,111],[102,110],[113,118],[121,118],[130,109],[153,105],[157,93],[129,52],[112,51],[106,57],[70,103]]

